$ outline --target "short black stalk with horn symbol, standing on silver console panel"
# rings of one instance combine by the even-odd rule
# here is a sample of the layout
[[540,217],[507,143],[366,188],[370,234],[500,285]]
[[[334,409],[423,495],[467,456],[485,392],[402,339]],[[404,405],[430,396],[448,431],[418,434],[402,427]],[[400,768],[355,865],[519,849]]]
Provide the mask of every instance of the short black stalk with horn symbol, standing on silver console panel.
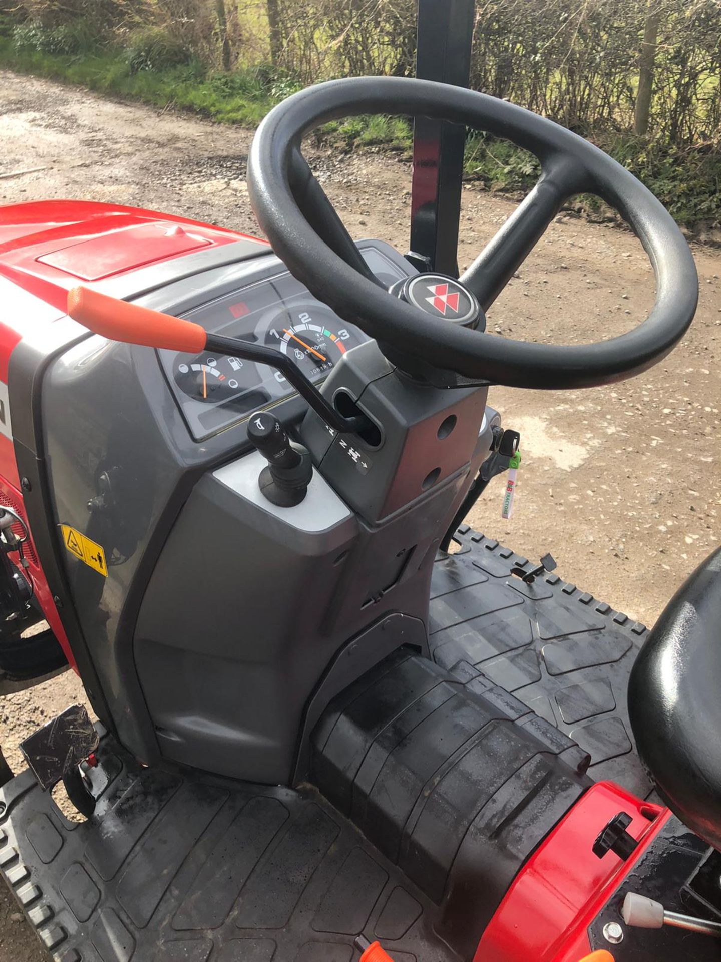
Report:
[[300,504],[313,474],[309,452],[300,444],[293,444],[283,424],[267,411],[251,415],[248,438],[268,462],[258,477],[262,494],[283,508]]

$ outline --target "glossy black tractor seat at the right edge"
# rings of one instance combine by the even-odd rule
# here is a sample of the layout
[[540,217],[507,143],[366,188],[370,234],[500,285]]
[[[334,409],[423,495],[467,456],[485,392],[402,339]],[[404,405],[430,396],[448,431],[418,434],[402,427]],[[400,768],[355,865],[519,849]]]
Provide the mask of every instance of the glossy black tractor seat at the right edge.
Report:
[[634,664],[638,753],[682,822],[721,849],[721,548],[664,608]]

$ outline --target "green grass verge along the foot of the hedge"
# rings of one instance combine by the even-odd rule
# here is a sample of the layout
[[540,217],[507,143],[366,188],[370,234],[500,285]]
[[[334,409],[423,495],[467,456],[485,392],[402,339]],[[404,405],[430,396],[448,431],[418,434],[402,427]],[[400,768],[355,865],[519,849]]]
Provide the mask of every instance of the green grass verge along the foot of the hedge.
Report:
[[[56,41],[72,44],[76,38],[55,38],[55,46]],[[245,127],[257,126],[274,104],[297,89],[292,77],[278,76],[267,65],[231,74],[209,73],[201,63],[189,59],[163,69],[134,69],[128,51],[95,47],[76,53],[51,52],[17,45],[11,31],[3,29],[0,65]],[[328,124],[315,136],[335,143],[340,150],[383,149],[410,157],[410,122],[401,117],[350,117]],[[693,229],[721,221],[721,154],[717,150],[682,152],[629,134],[604,134],[596,142],[639,177],[679,222]],[[487,190],[520,192],[534,185],[538,165],[530,154],[506,140],[471,134],[465,174]],[[584,197],[581,206],[593,211],[599,202]]]

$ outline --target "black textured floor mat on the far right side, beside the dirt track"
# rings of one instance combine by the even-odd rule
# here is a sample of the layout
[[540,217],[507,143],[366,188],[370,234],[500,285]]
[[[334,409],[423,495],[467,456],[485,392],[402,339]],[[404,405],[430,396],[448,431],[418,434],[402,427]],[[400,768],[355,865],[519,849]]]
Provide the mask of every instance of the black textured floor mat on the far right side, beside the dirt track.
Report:
[[648,797],[626,704],[644,625],[555,573],[525,584],[510,570],[528,560],[466,525],[456,540],[460,550],[435,563],[435,661],[473,665],[584,748],[592,778]]

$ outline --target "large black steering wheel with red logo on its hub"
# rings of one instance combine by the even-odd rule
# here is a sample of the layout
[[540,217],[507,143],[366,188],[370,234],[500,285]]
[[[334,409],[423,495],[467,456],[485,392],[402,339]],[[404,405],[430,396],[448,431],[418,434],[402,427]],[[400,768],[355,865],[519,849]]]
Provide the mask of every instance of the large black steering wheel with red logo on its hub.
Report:
[[[540,161],[542,173],[534,190],[460,277],[461,299],[470,291],[486,311],[563,202],[589,192],[614,207],[643,244],[656,274],[651,314],[634,330],[609,341],[559,346],[513,341],[448,323],[440,311],[430,313],[421,298],[404,301],[388,293],[365,265],[300,154],[304,135],[329,120],[355,114],[450,120],[510,139]],[[620,381],[665,357],[684,336],[696,310],[698,278],[688,245],[673,218],[633,174],[551,120],[473,90],[402,77],[349,78],[302,90],[262,121],[248,161],[248,189],[275,253],[336,314],[396,354],[474,380],[554,390]],[[429,276],[437,280],[437,275]]]

